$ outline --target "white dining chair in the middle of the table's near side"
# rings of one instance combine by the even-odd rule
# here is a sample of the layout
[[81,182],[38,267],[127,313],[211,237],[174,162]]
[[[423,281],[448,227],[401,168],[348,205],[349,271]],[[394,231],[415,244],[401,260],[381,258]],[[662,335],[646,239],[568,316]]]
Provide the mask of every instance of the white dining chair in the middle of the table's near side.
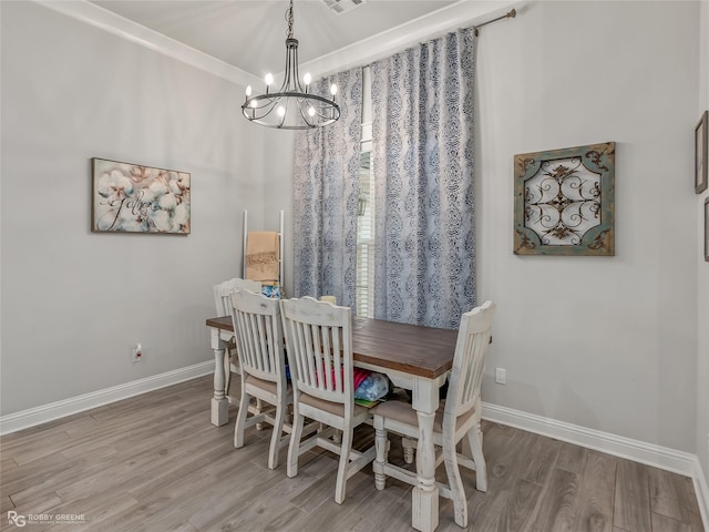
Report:
[[[295,477],[298,457],[316,446],[339,454],[335,502],[341,504],[347,480],[376,452],[373,446],[364,452],[352,449],[354,428],[371,415],[354,403],[350,309],[312,297],[284,299],[280,305],[294,393],[287,474]],[[301,441],[305,418],[329,428]],[[330,439],[337,430],[340,444]]]

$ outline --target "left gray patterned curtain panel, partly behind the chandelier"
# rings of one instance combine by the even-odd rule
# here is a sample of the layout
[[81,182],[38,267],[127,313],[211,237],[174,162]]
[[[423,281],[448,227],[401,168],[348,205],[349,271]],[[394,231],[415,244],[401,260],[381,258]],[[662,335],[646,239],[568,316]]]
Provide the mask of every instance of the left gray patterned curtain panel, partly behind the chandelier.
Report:
[[294,296],[332,295],[353,308],[362,69],[320,80],[314,93],[329,94],[332,83],[340,120],[296,137]]

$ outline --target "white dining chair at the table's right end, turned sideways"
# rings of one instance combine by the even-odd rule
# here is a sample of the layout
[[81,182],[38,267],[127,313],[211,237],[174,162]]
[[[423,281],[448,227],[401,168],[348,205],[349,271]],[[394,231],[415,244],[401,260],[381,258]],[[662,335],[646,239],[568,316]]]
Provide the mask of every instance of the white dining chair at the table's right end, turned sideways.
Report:
[[[439,483],[441,497],[453,501],[455,523],[467,526],[467,500],[463,489],[459,466],[475,471],[475,487],[487,490],[487,471],[483,456],[481,430],[480,389],[485,366],[485,352],[492,335],[492,321],[496,305],[485,301],[461,317],[453,367],[445,400],[433,421],[433,444],[436,452],[435,467],[445,463],[448,483]],[[374,415],[377,459],[372,464],[374,484],[384,489],[386,478],[393,477],[417,485],[415,472],[387,461],[387,432],[393,431],[410,439],[419,437],[417,412],[407,401],[390,400],[372,408]],[[458,453],[456,444],[465,438],[463,449],[470,453]]]

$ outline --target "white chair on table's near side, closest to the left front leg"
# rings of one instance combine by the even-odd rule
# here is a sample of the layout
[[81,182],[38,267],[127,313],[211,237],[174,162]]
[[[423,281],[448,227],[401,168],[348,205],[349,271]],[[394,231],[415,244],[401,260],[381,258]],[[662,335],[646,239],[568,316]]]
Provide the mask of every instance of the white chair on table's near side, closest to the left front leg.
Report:
[[[274,427],[268,451],[268,469],[278,467],[278,451],[288,443],[282,436],[286,410],[292,391],[286,379],[282,324],[278,300],[250,290],[230,296],[232,321],[236,334],[237,356],[242,374],[242,397],[234,429],[234,447],[244,447],[244,431],[256,423]],[[260,399],[260,408],[248,416],[251,398]],[[265,412],[264,403],[276,407],[275,417]],[[287,430],[289,432],[289,430]]]

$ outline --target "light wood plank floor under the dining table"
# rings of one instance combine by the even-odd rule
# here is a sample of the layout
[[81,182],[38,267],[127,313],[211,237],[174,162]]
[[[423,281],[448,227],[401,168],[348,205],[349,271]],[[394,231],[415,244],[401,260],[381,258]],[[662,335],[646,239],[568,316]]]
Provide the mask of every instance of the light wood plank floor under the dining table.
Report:
[[[2,437],[0,530],[412,530],[407,484],[388,479],[378,492],[367,467],[338,505],[335,456],[309,452],[288,479],[284,450],[270,471],[269,430],[251,428],[234,449],[235,409],[228,426],[214,427],[210,397],[204,377]],[[358,431],[358,447],[371,444],[371,430]],[[703,531],[689,478],[501,424],[485,422],[484,434],[487,493],[463,470],[471,531]],[[9,519],[38,514],[74,521]],[[438,530],[461,531],[450,501],[441,499],[440,514]]]

